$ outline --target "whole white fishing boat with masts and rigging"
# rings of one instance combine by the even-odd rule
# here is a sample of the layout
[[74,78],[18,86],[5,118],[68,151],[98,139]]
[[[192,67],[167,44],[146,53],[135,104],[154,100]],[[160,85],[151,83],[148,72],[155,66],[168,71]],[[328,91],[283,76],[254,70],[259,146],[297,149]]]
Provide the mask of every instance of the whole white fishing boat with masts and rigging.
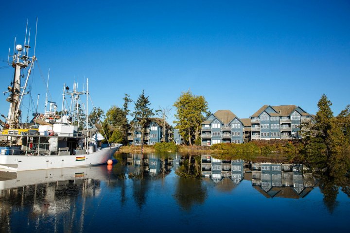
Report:
[[[36,35],[35,35],[36,37]],[[12,67],[15,75],[8,86],[7,101],[9,112],[0,133],[0,169],[11,171],[52,169],[63,167],[94,166],[106,163],[122,144],[102,144],[104,136],[96,129],[79,130],[79,120],[72,119],[72,107],[78,109],[80,96],[86,95],[86,128],[88,128],[88,80],[85,91],[78,91],[74,83],[73,90],[64,85],[62,111],[57,113],[57,105],[50,102],[50,110],[45,107],[44,114],[35,113],[32,124],[23,124],[21,118],[21,103],[26,92],[28,80],[36,61],[35,52],[29,56],[29,38],[22,45],[17,45],[12,56]],[[15,40],[16,41],[16,40]],[[16,44],[16,42],[15,42]],[[35,49],[34,49],[35,51]],[[28,70],[25,73],[25,70]],[[22,86],[21,79],[25,78]],[[70,96],[70,109],[64,108],[66,96]],[[47,105],[48,101],[46,100]],[[76,112],[81,114],[79,111]],[[79,117],[79,116],[78,116]],[[79,118],[78,118],[79,119]],[[78,125],[76,124],[78,122]]]

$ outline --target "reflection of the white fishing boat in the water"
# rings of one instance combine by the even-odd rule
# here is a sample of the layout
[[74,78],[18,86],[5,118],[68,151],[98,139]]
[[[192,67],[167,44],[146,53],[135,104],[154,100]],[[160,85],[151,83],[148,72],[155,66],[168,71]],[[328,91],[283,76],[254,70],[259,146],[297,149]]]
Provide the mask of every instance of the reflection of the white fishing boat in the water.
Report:
[[109,179],[106,166],[0,171],[0,232],[21,229],[13,222],[17,215],[44,226],[53,217],[61,229],[71,229],[73,218],[84,222],[86,201],[97,198],[101,181]]

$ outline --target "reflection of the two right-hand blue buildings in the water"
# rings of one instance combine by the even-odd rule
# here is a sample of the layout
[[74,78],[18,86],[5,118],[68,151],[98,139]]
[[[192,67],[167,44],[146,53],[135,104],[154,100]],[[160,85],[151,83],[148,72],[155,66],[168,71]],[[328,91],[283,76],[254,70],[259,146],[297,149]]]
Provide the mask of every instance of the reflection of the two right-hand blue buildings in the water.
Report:
[[312,172],[302,164],[221,160],[202,155],[201,167],[202,177],[208,177],[214,183],[231,180],[238,185],[244,179],[250,180],[266,198],[304,198],[315,186]]

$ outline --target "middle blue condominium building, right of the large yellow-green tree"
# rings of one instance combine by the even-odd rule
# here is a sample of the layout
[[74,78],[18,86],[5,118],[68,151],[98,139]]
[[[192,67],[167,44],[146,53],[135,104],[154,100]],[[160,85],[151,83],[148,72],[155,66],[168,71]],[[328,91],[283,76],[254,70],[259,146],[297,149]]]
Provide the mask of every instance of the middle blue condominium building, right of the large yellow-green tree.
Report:
[[244,142],[244,122],[230,110],[218,110],[210,114],[201,125],[202,146]]

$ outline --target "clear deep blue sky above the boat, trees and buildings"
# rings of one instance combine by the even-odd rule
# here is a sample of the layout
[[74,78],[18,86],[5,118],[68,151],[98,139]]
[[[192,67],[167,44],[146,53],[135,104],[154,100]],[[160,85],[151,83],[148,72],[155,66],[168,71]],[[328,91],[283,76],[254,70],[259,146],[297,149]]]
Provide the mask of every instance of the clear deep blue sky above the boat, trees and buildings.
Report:
[[[350,104],[350,1],[7,0],[0,5],[0,67],[14,37],[23,44],[27,19],[34,47],[36,17],[31,90],[35,103],[41,94],[41,112],[49,68],[53,101],[61,102],[63,83],[82,87],[85,77],[94,105],[105,111],[142,89],[154,109],[171,107],[190,89],[211,112],[229,109],[241,118],[263,104],[315,114],[323,93],[335,115]],[[0,69],[2,91],[12,77],[12,68]]]

